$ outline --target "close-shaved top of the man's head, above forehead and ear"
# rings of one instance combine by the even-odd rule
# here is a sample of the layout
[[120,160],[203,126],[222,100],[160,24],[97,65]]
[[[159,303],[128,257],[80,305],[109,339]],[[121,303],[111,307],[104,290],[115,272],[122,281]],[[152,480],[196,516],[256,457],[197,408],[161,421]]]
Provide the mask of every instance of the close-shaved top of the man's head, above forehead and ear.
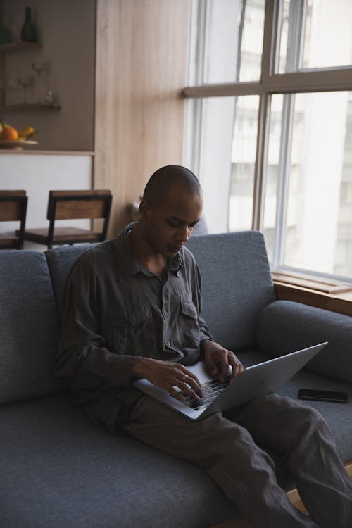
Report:
[[153,206],[158,206],[175,187],[187,194],[202,195],[201,184],[191,170],[181,165],[166,165],[151,176],[144,189],[143,198]]

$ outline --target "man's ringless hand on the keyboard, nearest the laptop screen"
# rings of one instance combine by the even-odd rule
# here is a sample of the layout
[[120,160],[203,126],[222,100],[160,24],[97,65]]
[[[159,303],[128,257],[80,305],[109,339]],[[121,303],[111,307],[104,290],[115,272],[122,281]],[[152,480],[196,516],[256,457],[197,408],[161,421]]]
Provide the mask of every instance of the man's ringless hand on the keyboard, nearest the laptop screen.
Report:
[[227,370],[229,365],[232,366],[232,373],[230,382],[233,382],[235,377],[244,370],[241,361],[230,350],[226,350],[223,346],[214,341],[203,341],[204,362],[208,367],[211,377],[220,376],[220,381],[225,382]]

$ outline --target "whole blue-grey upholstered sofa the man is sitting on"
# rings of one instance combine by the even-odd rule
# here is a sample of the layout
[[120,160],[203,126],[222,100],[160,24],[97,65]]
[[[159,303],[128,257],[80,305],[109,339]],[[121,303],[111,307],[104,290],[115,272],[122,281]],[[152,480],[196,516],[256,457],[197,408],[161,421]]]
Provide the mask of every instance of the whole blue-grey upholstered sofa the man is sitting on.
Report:
[[[194,236],[203,315],[245,365],[329,341],[279,392],[348,392],[311,403],[352,459],[352,318],[277,301],[262,234]],[[87,246],[0,252],[1,528],[201,528],[238,511],[199,467],[91,425],[54,377],[65,277]],[[294,486],[275,453],[277,476]]]

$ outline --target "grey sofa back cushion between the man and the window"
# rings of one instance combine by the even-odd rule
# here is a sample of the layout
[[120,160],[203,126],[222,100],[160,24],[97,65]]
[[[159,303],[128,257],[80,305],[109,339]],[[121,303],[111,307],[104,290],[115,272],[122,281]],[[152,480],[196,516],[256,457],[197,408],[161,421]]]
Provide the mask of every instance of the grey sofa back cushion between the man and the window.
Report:
[[187,247],[201,269],[203,317],[215,340],[230,349],[254,346],[260,310],[275,301],[263,234],[196,235]]

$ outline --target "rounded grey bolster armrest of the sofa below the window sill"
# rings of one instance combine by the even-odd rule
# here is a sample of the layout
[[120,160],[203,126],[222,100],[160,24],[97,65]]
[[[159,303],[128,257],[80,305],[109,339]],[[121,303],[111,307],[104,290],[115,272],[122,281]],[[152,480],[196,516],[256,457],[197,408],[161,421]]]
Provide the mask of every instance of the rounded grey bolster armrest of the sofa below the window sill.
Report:
[[292,301],[275,301],[260,312],[256,341],[274,358],[328,341],[307,367],[352,382],[352,318]]

